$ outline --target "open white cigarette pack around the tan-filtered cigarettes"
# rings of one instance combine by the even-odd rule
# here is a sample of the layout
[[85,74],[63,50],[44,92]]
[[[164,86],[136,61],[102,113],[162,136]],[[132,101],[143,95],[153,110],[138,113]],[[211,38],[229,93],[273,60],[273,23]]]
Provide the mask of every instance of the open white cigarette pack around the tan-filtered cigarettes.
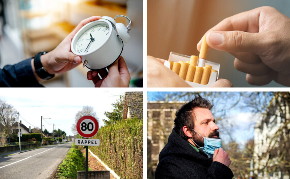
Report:
[[[190,56],[182,55],[182,54],[175,53],[175,52],[170,52],[169,59],[168,59],[168,61],[164,62],[164,65],[170,69],[169,61],[173,61],[173,62],[184,61],[184,62],[186,62],[189,60],[190,60]],[[216,82],[216,80],[218,80],[218,74],[220,71],[220,64],[206,60],[205,65],[210,65],[210,66],[212,66],[212,69],[217,71],[217,72],[211,73],[211,76],[208,80],[208,84],[203,85],[203,84],[194,83],[194,82],[190,82],[190,81],[186,81],[186,83],[188,83],[192,87],[210,87],[210,86],[212,86],[214,84],[214,82]]]

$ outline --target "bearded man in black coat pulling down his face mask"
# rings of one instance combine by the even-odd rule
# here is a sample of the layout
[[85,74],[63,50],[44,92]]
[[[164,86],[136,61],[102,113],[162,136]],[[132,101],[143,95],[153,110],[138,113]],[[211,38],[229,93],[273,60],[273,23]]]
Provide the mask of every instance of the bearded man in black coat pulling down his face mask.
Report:
[[174,128],[159,154],[155,178],[232,178],[221,148],[213,105],[200,95],[176,111]]

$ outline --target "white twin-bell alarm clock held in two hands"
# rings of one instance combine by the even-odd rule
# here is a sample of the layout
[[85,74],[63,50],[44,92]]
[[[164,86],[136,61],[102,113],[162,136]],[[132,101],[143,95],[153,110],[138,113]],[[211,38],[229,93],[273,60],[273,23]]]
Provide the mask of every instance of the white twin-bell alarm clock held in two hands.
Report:
[[[124,17],[130,22],[127,27],[116,23],[114,19]],[[108,67],[116,61],[122,53],[123,42],[130,39],[129,27],[132,21],[123,15],[111,18],[103,16],[102,19],[85,24],[73,37],[71,43],[72,53],[82,57],[83,67],[98,70]]]

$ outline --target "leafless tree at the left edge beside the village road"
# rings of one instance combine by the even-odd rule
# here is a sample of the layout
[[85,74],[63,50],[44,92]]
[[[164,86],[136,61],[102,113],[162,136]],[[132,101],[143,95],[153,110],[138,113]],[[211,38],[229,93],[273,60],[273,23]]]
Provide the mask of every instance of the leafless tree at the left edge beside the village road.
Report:
[[0,99],[0,123],[5,137],[12,136],[12,125],[16,121],[16,109],[5,100]]

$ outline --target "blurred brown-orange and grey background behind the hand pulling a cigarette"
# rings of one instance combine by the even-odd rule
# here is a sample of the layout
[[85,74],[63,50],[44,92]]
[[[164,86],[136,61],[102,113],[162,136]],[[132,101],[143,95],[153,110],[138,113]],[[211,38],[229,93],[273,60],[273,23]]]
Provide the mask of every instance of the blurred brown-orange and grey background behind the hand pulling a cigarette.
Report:
[[[168,59],[170,52],[199,55],[196,45],[202,36],[221,20],[260,6],[272,6],[290,17],[289,0],[148,0],[147,55]],[[234,68],[234,56],[214,49],[207,59],[221,64],[219,78],[234,87],[285,87],[276,82],[264,86],[247,83],[246,74]]]

